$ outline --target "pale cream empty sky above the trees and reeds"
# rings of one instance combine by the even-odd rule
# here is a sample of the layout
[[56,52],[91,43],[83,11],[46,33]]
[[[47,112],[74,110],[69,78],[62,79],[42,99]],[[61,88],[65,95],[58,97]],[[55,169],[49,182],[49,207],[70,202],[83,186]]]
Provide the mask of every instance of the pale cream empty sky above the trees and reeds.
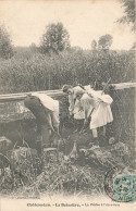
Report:
[[110,34],[112,49],[128,50],[135,37],[128,25],[116,23],[121,16],[119,0],[0,0],[0,24],[14,46],[39,45],[46,26],[62,22],[73,47],[90,49],[94,39]]

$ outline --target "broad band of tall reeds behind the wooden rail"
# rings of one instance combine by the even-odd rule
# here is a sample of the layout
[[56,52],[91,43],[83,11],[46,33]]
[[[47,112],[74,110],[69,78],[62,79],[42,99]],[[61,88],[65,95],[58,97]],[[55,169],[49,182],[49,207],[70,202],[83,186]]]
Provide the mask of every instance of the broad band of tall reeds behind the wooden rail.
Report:
[[[22,92],[61,88],[63,84],[87,85],[96,74],[103,82],[123,83],[135,78],[135,52],[65,50],[52,57],[17,53],[1,60],[0,92]],[[120,74],[119,74],[120,73]]]

